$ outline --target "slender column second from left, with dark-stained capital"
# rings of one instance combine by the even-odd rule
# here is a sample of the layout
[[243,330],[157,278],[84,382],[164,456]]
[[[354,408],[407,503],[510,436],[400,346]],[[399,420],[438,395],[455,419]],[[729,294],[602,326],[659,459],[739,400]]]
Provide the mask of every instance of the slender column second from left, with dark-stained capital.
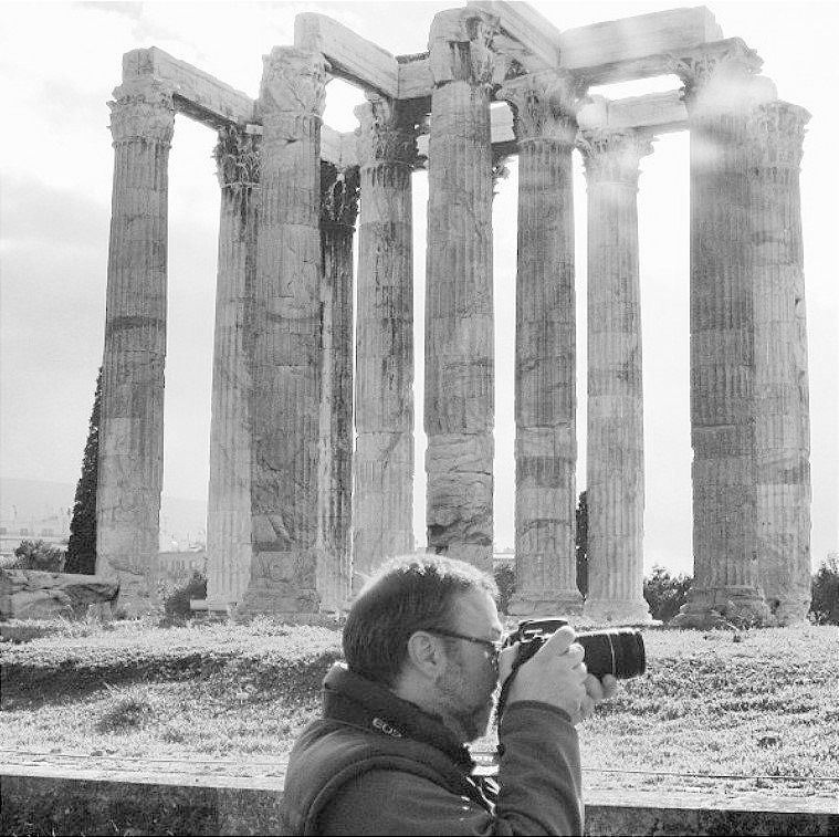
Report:
[[258,137],[238,125],[216,146],[221,216],[212,359],[210,489],[207,504],[207,604],[235,606],[251,568],[251,354],[259,201]]

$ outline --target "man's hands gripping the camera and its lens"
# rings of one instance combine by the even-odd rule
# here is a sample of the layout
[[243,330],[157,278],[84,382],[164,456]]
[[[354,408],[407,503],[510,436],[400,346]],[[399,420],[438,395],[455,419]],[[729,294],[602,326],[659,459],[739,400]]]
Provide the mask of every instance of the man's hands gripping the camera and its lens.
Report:
[[[606,674],[600,682],[589,674],[583,662],[585,651],[575,642],[574,628],[566,625],[516,672],[510,687],[507,707],[516,701],[533,700],[562,709],[571,723],[585,721],[604,700],[617,690],[617,680]],[[501,652],[499,662],[501,681],[513,668],[517,645]]]

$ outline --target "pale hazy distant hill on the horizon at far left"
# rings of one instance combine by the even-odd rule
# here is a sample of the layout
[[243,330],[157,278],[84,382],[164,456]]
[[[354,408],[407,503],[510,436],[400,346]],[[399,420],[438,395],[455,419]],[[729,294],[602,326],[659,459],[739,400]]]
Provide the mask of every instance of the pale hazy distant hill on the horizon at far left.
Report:
[[[76,486],[69,482],[0,479],[0,517],[4,522],[49,517],[56,512],[72,512]],[[160,546],[186,550],[190,543],[203,543],[207,529],[207,502],[164,496],[160,508]]]

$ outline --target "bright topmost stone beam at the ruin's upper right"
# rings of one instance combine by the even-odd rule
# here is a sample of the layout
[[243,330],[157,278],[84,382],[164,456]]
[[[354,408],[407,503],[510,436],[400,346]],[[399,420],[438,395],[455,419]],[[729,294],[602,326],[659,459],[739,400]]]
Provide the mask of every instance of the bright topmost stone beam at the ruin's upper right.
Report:
[[723,33],[703,6],[592,23],[560,33],[559,66],[591,84],[610,84],[673,72],[668,59]]

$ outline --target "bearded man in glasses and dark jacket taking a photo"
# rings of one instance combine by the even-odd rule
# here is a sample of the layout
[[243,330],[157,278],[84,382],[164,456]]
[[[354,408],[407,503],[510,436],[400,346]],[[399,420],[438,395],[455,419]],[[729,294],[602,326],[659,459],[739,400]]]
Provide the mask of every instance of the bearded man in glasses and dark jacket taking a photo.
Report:
[[516,648],[501,649],[492,578],[432,555],[382,566],[344,627],[346,666],[292,751],[286,834],[581,834],[575,724],[617,681],[588,674],[570,627],[518,669],[499,724],[495,781],[464,746],[486,731]]

